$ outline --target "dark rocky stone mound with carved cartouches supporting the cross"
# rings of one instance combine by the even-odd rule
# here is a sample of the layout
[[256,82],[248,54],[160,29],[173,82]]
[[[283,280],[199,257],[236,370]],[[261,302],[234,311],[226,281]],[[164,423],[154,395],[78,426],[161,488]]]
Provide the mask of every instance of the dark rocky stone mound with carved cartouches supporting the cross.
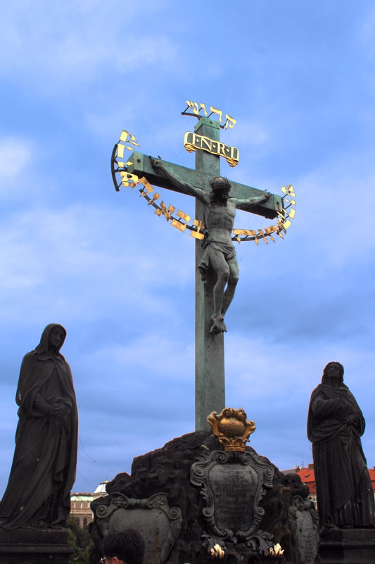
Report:
[[225,452],[210,432],[134,458],[132,474],[118,474],[106,490],[91,503],[90,564],[108,532],[129,526],[144,537],[144,564],[314,564],[317,518],[300,477],[253,448]]

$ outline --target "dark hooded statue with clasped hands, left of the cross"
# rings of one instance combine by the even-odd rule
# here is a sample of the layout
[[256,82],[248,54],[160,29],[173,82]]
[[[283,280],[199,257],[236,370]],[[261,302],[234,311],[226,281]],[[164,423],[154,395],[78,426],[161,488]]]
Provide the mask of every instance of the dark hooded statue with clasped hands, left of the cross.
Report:
[[77,462],[77,402],[68,362],[59,352],[66,331],[50,324],[23,358],[16,403],[18,427],[3,529],[65,527]]

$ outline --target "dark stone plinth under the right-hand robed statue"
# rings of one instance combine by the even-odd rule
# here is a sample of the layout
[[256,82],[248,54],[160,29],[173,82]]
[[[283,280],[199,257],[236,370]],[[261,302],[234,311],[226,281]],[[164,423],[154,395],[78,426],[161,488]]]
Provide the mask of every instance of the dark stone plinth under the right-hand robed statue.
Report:
[[338,529],[322,537],[322,564],[375,564],[375,529]]

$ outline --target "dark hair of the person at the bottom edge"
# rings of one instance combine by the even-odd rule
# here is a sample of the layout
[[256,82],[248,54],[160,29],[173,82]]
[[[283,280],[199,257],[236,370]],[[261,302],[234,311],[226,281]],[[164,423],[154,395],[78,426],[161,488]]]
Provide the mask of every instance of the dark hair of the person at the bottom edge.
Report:
[[135,529],[108,533],[101,542],[101,552],[107,558],[117,556],[124,564],[142,564],[144,561],[144,539]]

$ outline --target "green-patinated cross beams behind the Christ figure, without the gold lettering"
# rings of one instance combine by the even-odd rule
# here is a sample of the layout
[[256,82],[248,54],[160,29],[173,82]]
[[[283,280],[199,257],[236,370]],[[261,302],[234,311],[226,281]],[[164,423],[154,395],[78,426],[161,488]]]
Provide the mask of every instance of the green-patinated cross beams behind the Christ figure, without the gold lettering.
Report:
[[[197,135],[209,137],[219,142],[220,125],[210,118],[200,118],[196,123]],[[189,193],[184,185],[198,188],[207,195],[210,192],[212,178],[220,177],[220,156],[204,150],[196,151],[196,170],[164,162],[167,172],[155,166],[155,159],[139,152],[134,152],[129,157],[128,173],[144,176],[152,185],[167,188],[176,192]],[[182,183],[175,183],[174,177],[179,177]],[[180,185],[179,185],[180,184]],[[200,190],[199,190],[200,189]],[[194,188],[193,188],[194,190]],[[249,197],[259,197],[262,200],[265,192],[243,184],[231,182],[230,198],[239,200]],[[205,221],[203,216],[203,198],[196,197],[196,219]],[[237,206],[240,207],[240,206]],[[281,198],[269,195],[267,201],[253,205],[248,211],[274,219],[281,212]],[[240,209],[246,209],[240,207]],[[215,276],[208,274],[206,282],[201,282],[198,266],[202,260],[202,243],[196,240],[196,430],[209,428],[207,417],[212,411],[220,412],[225,407],[224,387],[224,336],[222,332],[212,332],[212,312],[214,312],[213,290]]]

